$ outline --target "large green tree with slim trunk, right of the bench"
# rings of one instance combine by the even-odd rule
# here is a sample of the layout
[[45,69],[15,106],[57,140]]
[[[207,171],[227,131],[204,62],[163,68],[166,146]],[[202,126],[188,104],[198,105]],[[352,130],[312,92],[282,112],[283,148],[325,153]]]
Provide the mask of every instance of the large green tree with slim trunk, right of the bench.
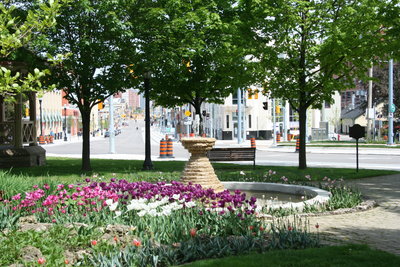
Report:
[[385,57],[387,1],[240,1],[242,44],[259,61],[258,81],[299,113],[299,168],[306,163],[306,112],[365,77]]

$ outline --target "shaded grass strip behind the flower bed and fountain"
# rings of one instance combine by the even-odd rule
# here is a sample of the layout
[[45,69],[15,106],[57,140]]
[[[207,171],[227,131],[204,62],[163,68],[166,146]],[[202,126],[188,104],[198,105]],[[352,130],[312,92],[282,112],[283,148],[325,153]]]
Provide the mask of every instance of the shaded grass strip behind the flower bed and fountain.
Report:
[[[0,188],[4,191],[3,197],[29,191],[35,184],[76,183],[84,178],[96,176],[96,179],[109,181],[110,178],[126,179],[133,181],[158,182],[179,180],[184,169],[183,161],[156,161],[153,171],[142,171],[141,160],[110,160],[92,159],[91,173],[81,172],[81,159],[71,158],[47,158],[47,165],[33,168],[12,168],[0,170]],[[281,181],[285,176],[289,182],[306,181],[306,175],[310,175],[312,181],[321,181],[325,176],[331,179],[358,179],[364,177],[381,176],[398,173],[395,171],[364,170],[357,173],[354,169],[334,168],[308,168],[299,170],[297,167],[283,166],[256,166],[237,164],[213,164],[221,181],[255,181],[275,182]],[[276,174],[265,177],[269,170]]]

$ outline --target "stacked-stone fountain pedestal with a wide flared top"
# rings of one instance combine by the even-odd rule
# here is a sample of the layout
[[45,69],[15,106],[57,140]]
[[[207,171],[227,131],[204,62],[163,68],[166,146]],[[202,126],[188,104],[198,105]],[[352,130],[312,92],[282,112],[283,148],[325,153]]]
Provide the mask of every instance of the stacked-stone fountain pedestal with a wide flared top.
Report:
[[206,155],[215,144],[214,138],[183,138],[182,145],[191,153],[182,173],[181,181],[192,182],[204,188],[212,188],[215,192],[223,191],[224,186],[219,181],[213,166]]

